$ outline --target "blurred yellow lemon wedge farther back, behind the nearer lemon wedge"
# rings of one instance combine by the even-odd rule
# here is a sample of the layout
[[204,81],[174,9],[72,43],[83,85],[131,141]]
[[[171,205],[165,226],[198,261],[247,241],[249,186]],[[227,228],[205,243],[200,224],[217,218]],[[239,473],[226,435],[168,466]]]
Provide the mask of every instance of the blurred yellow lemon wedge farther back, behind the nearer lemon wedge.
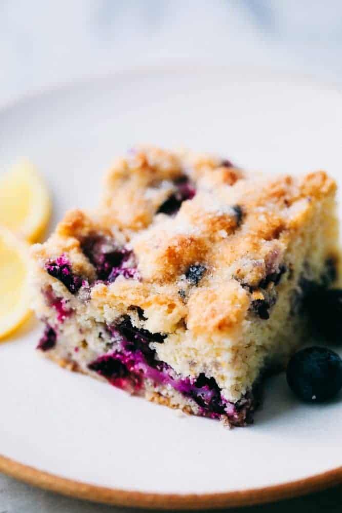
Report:
[[0,175],[0,224],[35,242],[50,214],[48,190],[30,162],[23,160]]

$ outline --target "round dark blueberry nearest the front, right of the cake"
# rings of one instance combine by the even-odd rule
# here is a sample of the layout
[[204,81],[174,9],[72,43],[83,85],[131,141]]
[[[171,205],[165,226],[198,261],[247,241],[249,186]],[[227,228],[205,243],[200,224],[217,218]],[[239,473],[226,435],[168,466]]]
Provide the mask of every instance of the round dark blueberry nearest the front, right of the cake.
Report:
[[327,347],[307,347],[291,358],[287,382],[293,392],[306,402],[324,402],[342,388],[342,360]]

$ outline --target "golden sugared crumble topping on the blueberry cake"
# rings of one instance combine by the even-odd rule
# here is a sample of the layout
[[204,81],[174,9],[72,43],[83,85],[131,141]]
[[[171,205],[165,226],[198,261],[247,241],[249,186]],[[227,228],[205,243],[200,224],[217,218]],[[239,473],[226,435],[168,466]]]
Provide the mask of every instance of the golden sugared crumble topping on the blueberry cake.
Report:
[[[243,307],[238,303],[242,317],[251,307],[251,312],[267,319],[276,302],[274,289],[288,273],[284,255],[296,237],[293,222],[298,223],[299,214],[306,219],[323,191],[333,193],[336,185],[323,171],[298,179],[291,176],[260,179],[236,170],[231,185],[216,187],[214,191],[200,186],[203,177],[210,181],[222,169],[235,172],[230,163],[223,164],[214,157],[179,155],[153,148],[133,151],[126,160],[118,161],[107,176],[107,212],[102,208],[91,219],[81,211],[73,211],[59,224],[51,244],[55,251],[57,241],[57,247],[64,251],[53,259],[47,243],[43,250],[46,270],[72,294],[81,288],[82,279],[95,285],[100,280],[108,286],[115,281],[118,284],[115,290],[122,289],[123,294],[122,279],[142,281],[148,284],[143,294],[137,284],[130,287],[138,297],[135,304],[143,308],[148,296],[155,298],[163,293],[172,303],[182,303],[180,309],[184,310],[187,299],[188,326],[194,325],[191,309],[194,300],[203,304],[204,311],[208,303],[211,311],[218,294],[226,297],[232,289],[240,287],[240,294],[248,291],[249,303],[247,308],[245,301]],[[172,182],[178,188],[168,196],[166,204],[175,206],[175,202],[180,202],[179,210],[176,213],[172,210],[172,217],[165,215],[159,219],[158,211],[168,210],[164,202],[154,211],[149,226],[132,232],[130,226],[125,227],[119,221],[120,229],[114,228],[116,207],[112,203],[118,207],[127,202],[127,188],[145,194],[158,181],[164,185],[165,181]],[[168,203],[170,198],[172,201]],[[135,204],[130,203],[131,206],[134,213]],[[149,207],[145,205],[144,209]],[[182,282],[184,275],[188,284]],[[179,281],[183,285],[179,286]],[[194,289],[189,287],[191,284],[195,285]],[[196,288],[200,290],[197,292]],[[109,289],[95,289],[92,285],[91,297],[98,297],[101,290],[110,305]],[[259,295],[255,295],[257,292]],[[221,321],[214,321],[214,325],[230,326],[228,308],[217,305],[218,308],[221,311],[212,312],[212,319],[218,316]],[[212,328],[213,323],[209,324]],[[208,326],[203,329],[208,330]]]

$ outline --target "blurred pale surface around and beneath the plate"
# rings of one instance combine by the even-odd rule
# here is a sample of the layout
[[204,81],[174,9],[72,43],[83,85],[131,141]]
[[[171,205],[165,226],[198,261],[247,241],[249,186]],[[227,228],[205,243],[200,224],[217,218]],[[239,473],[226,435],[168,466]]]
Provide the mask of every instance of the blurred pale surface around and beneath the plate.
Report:
[[[341,0],[0,0],[0,105],[118,68],[189,60],[339,86],[341,57]],[[337,513],[341,505],[336,487],[239,511]],[[0,476],[0,513],[115,510]]]

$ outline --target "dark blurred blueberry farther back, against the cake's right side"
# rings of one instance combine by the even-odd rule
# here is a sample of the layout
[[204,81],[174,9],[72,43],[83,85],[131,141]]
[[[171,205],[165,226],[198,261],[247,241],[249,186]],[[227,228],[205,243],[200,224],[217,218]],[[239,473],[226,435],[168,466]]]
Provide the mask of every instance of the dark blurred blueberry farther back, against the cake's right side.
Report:
[[342,289],[316,290],[308,295],[306,306],[316,332],[342,344]]

